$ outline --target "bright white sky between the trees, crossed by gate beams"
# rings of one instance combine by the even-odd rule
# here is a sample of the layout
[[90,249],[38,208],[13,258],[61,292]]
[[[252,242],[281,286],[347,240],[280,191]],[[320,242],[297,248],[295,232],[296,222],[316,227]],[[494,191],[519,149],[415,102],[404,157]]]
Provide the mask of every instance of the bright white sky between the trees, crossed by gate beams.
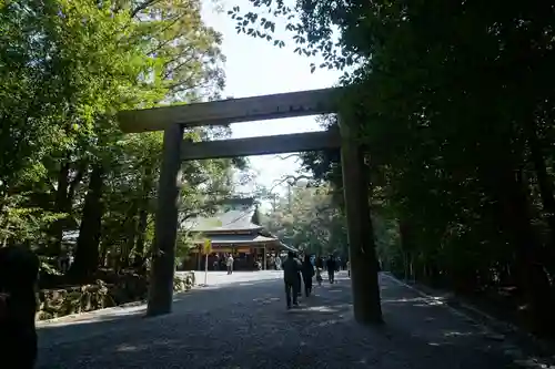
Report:
[[[242,11],[252,9],[248,0],[223,0],[224,11],[220,13],[215,11],[212,0],[203,1],[205,23],[223,34],[223,53],[228,59],[224,98],[323,89],[337,82],[340,73],[336,71],[317,70],[311,74],[312,60],[293,53],[293,43],[286,42],[287,34],[280,34],[278,28],[276,38],[286,42],[282,49],[262,39],[238,34],[235,21],[226,11],[234,6],[241,7]],[[231,127],[234,139],[321,130],[314,116],[238,123]],[[268,187],[299,168],[294,158],[281,160],[276,155],[252,156],[250,161],[259,173],[256,182]]]

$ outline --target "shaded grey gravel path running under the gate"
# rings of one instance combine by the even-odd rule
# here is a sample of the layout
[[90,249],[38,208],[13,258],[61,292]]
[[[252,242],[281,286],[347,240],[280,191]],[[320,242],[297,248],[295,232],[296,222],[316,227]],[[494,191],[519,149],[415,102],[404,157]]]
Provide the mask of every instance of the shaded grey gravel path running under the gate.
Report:
[[168,316],[143,318],[140,306],[41,324],[38,368],[516,367],[507,342],[387,275],[382,328],[353,321],[344,273],[290,311],[280,278],[214,274],[209,283],[216,288],[176,296]]

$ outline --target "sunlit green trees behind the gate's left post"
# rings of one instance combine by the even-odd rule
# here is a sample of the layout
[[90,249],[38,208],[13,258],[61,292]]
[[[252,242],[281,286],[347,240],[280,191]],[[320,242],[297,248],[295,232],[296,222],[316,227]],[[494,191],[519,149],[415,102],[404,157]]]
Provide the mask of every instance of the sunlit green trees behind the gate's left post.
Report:
[[[163,135],[123,135],[114,113],[219,96],[221,34],[200,1],[0,3],[0,245],[30,243],[43,271],[141,268],[151,255]],[[229,127],[195,129],[213,140]],[[180,221],[234,191],[242,158],[182,166]],[[74,243],[67,230],[80,230]],[[179,243],[183,255],[190,239]]]

